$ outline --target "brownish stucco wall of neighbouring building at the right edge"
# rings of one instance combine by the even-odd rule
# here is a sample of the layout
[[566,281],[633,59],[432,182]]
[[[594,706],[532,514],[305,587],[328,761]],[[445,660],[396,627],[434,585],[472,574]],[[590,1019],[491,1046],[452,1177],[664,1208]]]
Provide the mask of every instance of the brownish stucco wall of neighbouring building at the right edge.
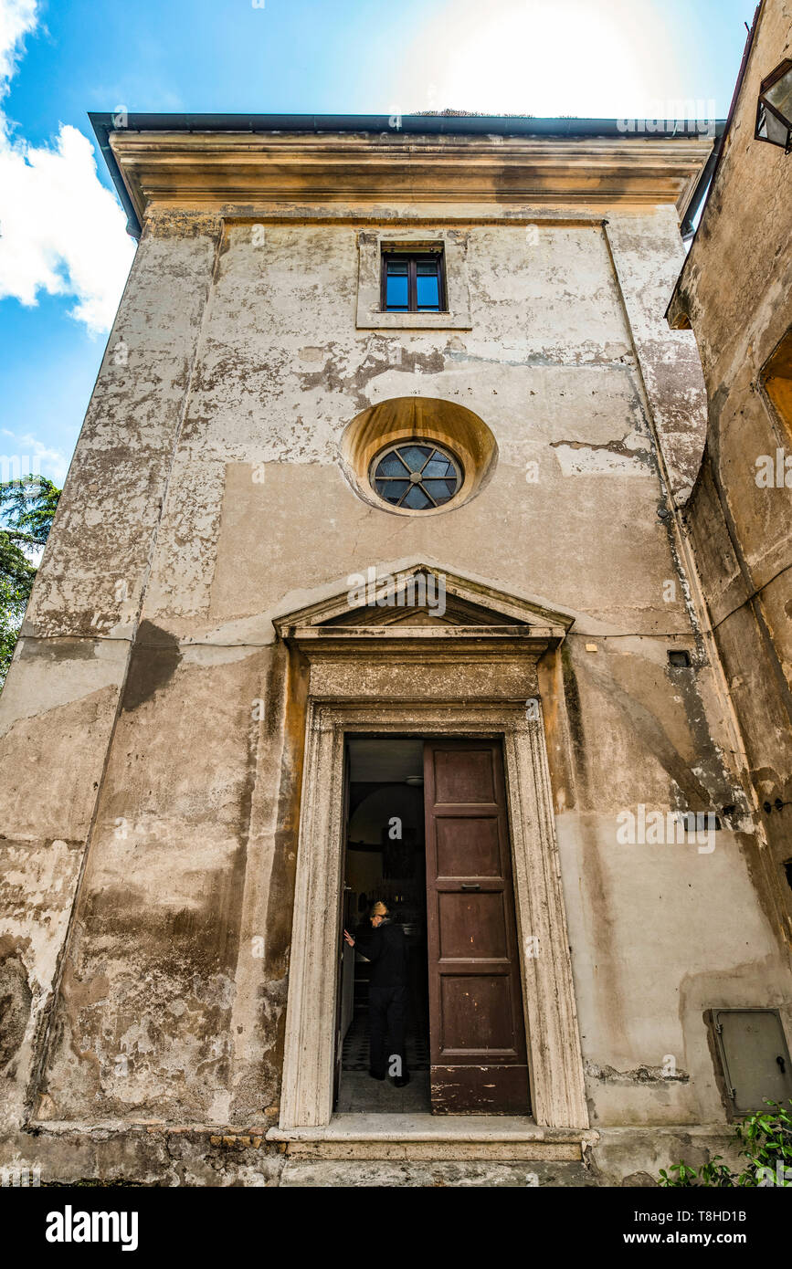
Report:
[[[760,81],[792,55],[792,6],[762,10],[723,156],[670,317],[696,331],[710,400],[688,528],[745,746],[755,872],[792,937],[792,416],[763,368],[792,329],[792,160],[754,138]],[[781,452],[781,481],[778,452]],[[784,461],[788,468],[784,467]],[[764,478],[768,464],[772,482]],[[777,806],[777,802],[783,806]]]

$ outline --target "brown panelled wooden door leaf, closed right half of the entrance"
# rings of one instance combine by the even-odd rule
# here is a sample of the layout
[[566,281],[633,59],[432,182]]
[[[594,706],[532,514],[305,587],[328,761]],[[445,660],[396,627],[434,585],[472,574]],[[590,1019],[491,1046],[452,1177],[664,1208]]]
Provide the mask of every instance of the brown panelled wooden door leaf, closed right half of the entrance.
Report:
[[434,1113],[529,1110],[501,746],[424,746]]

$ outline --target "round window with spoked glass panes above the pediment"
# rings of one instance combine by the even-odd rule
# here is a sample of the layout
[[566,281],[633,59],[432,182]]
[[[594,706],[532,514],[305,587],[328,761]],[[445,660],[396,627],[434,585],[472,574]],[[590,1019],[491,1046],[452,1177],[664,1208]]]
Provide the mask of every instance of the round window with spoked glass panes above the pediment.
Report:
[[391,506],[432,511],[449,503],[462,485],[459,462],[430,442],[405,440],[383,449],[371,466],[376,492]]

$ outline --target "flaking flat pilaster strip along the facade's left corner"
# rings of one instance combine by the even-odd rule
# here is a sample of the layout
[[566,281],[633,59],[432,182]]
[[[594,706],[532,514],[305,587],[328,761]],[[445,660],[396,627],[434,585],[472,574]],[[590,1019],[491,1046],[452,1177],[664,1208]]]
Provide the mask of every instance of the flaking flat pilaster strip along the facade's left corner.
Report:
[[5,1067],[11,1123],[34,1090],[213,254],[193,222],[135,260],[3,692],[3,947],[30,992]]

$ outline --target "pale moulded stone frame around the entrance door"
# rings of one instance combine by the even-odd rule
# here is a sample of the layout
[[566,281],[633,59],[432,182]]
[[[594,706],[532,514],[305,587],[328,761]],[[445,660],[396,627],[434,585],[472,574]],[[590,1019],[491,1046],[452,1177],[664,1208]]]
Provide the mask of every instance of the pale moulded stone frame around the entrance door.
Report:
[[354,733],[503,739],[533,1118],[553,1128],[589,1127],[538,698],[536,706],[310,698],[280,1129],[321,1127],[333,1114],[344,739]]

